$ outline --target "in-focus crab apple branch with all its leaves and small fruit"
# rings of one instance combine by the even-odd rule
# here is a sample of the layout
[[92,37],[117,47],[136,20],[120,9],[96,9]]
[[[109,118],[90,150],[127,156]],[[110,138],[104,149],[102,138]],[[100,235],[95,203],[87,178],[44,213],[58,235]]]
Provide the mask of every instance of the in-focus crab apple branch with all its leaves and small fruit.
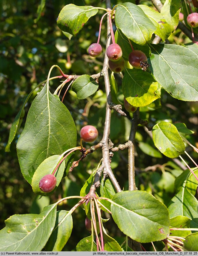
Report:
[[[68,173],[74,170],[83,173],[85,170],[79,170],[78,165],[87,160],[87,155],[93,157],[96,151],[100,151],[101,157],[79,195],[63,197],[45,206],[40,214],[12,215],[5,220],[5,227],[0,231],[1,251],[63,250],[73,228],[72,213],[78,207],[85,210],[85,227],[91,235],[76,242],[77,251],[142,251],[145,243],[150,243],[153,250],[198,250],[198,244],[193,242],[198,239],[198,165],[186,150],[192,147],[198,153],[186,137],[193,132],[184,123],[163,119],[163,113],[160,119],[153,116],[153,123],[147,120],[149,114],[142,114],[160,109],[162,92],[181,101],[181,104],[182,101],[198,101],[198,6],[196,0],[184,0],[182,3],[166,0],[164,5],[160,0],[152,2],[153,7],[137,5],[135,1],[112,6],[111,1],[106,0],[106,8],[68,4],[60,10],[58,27],[73,37],[80,33],[89,19],[94,19],[99,10],[104,12],[98,41],[88,48],[92,58],[98,58],[105,52],[103,67],[90,76],[65,74],[54,65],[47,79],[36,86],[38,88],[45,83],[30,106],[17,142],[21,173],[33,192],[45,197],[54,193]],[[179,23],[181,10],[186,25]],[[100,35],[105,19],[107,40],[104,47],[100,43]],[[168,37],[177,26],[183,26],[181,30],[187,31],[186,35],[190,33],[191,44],[168,43]],[[51,76],[54,68],[59,70],[59,76]],[[61,82],[52,94],[49,82],[54,79]],[[97,93],[103,81],[106,94],[103,133],[90,125],[88,118],[87,125],[77,131],[71,109],[63,104],[63,100],[69,90],[75,92],[79,100],[87,99]],[[116,81],[121,84],[120,88]],[[33,92],[25,98],[10,128],[7,152],[17,133],[25,104]],[[111,123],[112,112],[116,112],[116,118],[122,118],[122,122],[128,120],[129,136],[122,144],[111,140],[112,129],[117,129]],[[156,158],[163,154],[183,168],[175,177],[176,191],[167,205],[156,195],[154,197],[152,191],[149,193],[136,184],[140,171],[136,136],[142,128],[157,148],[142,141],[138,146],[145,154]],[[80,141],[77,141],[77,132],[80,133]],[[122,150],[128,150],[128,159],[125,159],[128,163],[128,187],[120,185],[112,168],[115,152]],[[76,152],[80,152],[77,160],[74,159]],[[190,159],[190,164],[181,156],[184,154]],[[149,168],[154,171],[158,167],[157,164],[148,166],[144,172],[146,174]],[[160,168],[163,175],[170,170],[167,165]],[[74,198],[78,203],[71,210],[57,211],[59,204]],[[122,232],[124,242],[119,243],[116,234],[111,237],[105,229],[109,218],[113,218]]]

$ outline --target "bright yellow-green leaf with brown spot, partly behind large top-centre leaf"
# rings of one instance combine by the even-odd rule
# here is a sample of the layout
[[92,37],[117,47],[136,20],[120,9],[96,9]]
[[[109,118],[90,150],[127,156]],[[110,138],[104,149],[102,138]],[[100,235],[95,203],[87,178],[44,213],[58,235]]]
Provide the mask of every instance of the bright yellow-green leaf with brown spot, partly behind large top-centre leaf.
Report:
[[162,41],[167,39],[170,34],[175,30],[175,27],[172,26],[171,19],[165,15],[161,14],[151,7],[146,5],[138,5],[146,14],[146,16],[151,20],[151,22],[156,27],[155,34],[158,35]]

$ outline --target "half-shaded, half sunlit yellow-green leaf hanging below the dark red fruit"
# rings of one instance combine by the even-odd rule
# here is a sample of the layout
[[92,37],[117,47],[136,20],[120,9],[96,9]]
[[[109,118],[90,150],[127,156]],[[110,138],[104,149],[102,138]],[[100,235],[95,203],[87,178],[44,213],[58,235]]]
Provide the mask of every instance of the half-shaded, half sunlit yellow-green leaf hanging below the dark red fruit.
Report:
[[148,72],[125,68],[122,92],[125,99],[135,107],[144,107],[160,98],[155,92],[157,82]]

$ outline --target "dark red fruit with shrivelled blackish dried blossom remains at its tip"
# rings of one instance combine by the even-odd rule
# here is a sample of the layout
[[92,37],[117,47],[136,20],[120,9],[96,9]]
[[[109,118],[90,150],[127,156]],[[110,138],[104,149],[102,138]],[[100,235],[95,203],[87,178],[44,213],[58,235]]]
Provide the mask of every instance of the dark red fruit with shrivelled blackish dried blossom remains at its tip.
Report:
[[129,63],[134,68],[137,68],[137,69],[143,68],[144,71],[149,66],[149,64],[147,63],[146,55],[144,54],[144,52],[139,50],[135,50],[129,54]]

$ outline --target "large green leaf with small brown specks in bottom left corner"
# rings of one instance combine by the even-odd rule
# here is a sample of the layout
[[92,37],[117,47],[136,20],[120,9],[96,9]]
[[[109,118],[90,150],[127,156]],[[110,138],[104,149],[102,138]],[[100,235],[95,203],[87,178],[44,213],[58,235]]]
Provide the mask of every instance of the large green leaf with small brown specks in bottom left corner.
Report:
[[56,206],[45,206],[40,214],[15,214],[5,220],[0,231],[1,251],[40,251],[56,221]]

